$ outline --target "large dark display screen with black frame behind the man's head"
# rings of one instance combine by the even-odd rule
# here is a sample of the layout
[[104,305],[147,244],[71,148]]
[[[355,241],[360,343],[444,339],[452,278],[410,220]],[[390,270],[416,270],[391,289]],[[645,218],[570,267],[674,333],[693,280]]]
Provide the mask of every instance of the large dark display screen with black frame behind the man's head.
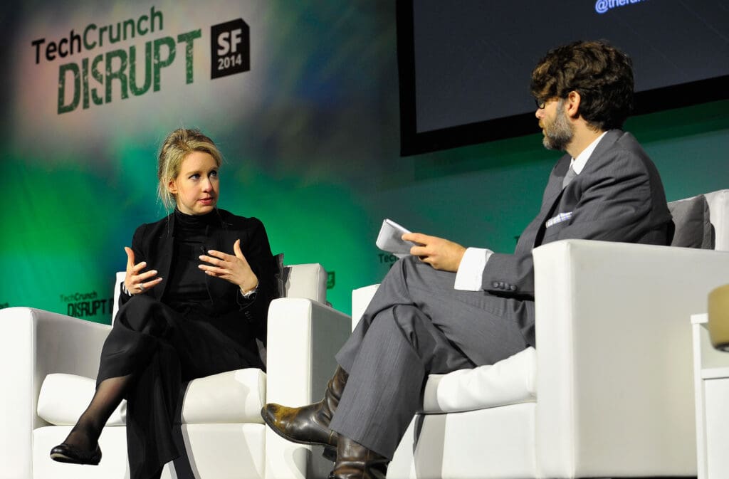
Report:
[[725,0],[410,0],[397,20],[404,154],[537,131],[531,69],[580,39],[631,55],[636,113],[728,98]]

